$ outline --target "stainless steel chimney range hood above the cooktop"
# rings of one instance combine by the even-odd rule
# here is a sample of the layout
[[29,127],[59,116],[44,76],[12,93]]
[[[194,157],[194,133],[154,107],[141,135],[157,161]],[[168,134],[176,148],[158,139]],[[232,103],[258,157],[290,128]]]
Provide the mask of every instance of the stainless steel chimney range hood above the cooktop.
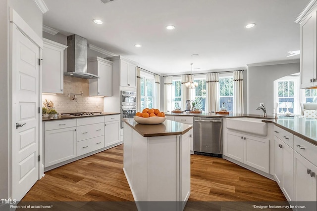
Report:
[[65,76],[82,79],[99,79],[98,76],[87,72],[87,39],[79,35],[67,37],[67,72]]

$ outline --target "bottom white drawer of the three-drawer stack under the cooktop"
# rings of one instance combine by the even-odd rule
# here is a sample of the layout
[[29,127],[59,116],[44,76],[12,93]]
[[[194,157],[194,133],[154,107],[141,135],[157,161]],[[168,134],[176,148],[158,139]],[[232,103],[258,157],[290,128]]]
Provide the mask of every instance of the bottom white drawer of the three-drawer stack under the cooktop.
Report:
[[105,147],[105,136],[99,136],[84,141],[77,142],[77,156],[90,153]]

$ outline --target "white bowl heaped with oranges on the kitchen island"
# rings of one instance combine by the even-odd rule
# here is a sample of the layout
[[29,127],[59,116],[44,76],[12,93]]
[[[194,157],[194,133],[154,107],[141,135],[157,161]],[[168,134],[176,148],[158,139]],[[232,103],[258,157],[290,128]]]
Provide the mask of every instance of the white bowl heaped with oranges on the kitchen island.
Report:
[[163,123],[166,117],[164,112],[160,112],[159,109],[145,108],[142,112],[137,112],[133,119],[140,124],[154,125]]

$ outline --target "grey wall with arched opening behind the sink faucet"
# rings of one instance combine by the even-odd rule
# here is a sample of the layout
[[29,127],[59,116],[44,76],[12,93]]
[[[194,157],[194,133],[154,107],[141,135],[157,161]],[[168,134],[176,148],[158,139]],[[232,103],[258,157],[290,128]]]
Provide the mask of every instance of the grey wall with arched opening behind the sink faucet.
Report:
[[262,114],[257,111],[260,102],[264,103],[268,116],[273,116],[273,82],[281,77],[298,73],[299,61],[289,64],[249,66],[248,68],[248,113]]

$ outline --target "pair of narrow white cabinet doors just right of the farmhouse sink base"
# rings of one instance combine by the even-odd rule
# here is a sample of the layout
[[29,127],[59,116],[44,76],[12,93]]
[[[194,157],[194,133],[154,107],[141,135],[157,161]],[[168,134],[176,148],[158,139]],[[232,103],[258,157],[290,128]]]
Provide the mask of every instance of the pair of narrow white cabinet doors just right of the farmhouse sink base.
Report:
[[274,136],[274,178],[288,201],[293,201],[293,148]]

